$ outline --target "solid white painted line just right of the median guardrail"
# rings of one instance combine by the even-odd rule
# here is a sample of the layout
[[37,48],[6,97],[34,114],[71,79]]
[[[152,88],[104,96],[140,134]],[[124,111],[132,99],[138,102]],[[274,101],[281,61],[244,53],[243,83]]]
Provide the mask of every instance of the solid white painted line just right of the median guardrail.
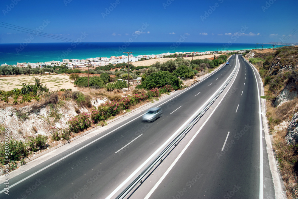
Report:
[[[237,65],[236,65],[237,66]],[[232,87],[233,83],[235,82],[235,79],[238,75],[239,70],[236,73],[236,76],[232,82],[232,84],[230,85],[229,89],[226,91],[226,93],[224,94],[223,98],[221,98],[221,101],[223,101],[224,97],[226,96],[226,94],[229,92],[230,88]],[[193,142],[193,140],[195,139],[195,137],[199,134],[199,132],[201,131],[201,129],[203,129],[203,127],[205,126],[205,124],[207,123],[207,121],[210,119],[210,117],[213,115],[213,113],[215,112],[215,110],[217,109],[217,107],[219,106],[219,104],[221,104],[221,101],[217,104],[217,106],[213,109],[213,111],[211,112],[211,114],[209,115],[209,117],[205,120],[205,122],[202,124],[202,126],[200,127],[200,129],[195,133],[195,135],[192,137],[192,139],[187,143],[187,145],[184,147],[184,149],[181,151],[181,153],[177,156],[177,158],[174,160],[174,162],[170,165],[170,167],[167,169],[167,171],[164,173],[164,175],[162,175],[162,177],[159,179],[159,181],[154,185],[154,187],[150,190],[150,192],[148,192],[148,194],[145,196],[144,199],[148,199],[153,192],[155,191],[155,189],[159,186],[159,184],[164,180],[164,178],[167,176],[167,174],[170,172],[170,170],[175,166],[175,164],[178,162],[178,160],[180,159],[180,157],[183,155],[183,153],[186,151],[186,149],[190,146],[191,142]]]

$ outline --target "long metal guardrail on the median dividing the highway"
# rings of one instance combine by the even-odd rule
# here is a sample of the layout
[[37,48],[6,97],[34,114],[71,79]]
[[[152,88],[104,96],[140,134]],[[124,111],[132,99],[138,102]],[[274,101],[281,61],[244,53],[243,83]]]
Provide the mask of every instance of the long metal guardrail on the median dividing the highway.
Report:
[[[237,68],[236,68],[237,70]],[[162,158],[167,155],[173,146],[176,146],[184,135],[198,122],[199,119],[204,115],[209,107],[215,102],[215,100],[221,95],[227,85],[231,82],[236,70],[226,82],[226,84],[221,88],[220,91],[209,101],[209,103],[201,110],[201,112],[195,116],[195,118],[181,131],[181,133],[137,176],[118,196],[116,199],[125,198],[139,183],[142,183],[143,179],[148,173],[155,167],[156,164],[162,162]]]

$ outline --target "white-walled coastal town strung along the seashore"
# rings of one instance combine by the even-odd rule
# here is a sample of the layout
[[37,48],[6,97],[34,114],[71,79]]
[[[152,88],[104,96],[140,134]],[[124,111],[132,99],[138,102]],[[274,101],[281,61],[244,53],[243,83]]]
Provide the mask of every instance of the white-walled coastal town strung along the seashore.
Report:
[[[163,58],[167,56],[172,55],[184,55],[185,57],[191,57],[191,56],[200,56],[200,55],[208,55],[208,54],[218,54],[218,53],[228,53],[228,52],[237,52],[237,51],[205,51],[205,52],[176,52],[176,53],[162,53],[162,54],[151,54],[151,55],[138,55],[134,56],[133,54],[130,54],[129,56],[129,62],[137,62],[142,60],[148,60],[148,59],[158,59]],[[239,53],[245,52],[245,51],[238,51]],[[96,68],[99,66],[105,66],[109,64],[119,64],[119,63],[127,63],[128,62],[128,55],[121,55],[121,56],[111,56],[108,57],[95,57],[95,58],[87,58],[87,59],[62,59],[61,61],[49,61],[49,62],[37,62],[37,63],[31,63],[31,62],[17,62],[16,67],[20,68],[26,68],[28,65],[31,66],[31,68],[46,68],[47,66],[67,66],[69,69],[74,68],[84,68],[84,67],[91,67]],[[1,66],[8,65],[6,63],[1,64]]]

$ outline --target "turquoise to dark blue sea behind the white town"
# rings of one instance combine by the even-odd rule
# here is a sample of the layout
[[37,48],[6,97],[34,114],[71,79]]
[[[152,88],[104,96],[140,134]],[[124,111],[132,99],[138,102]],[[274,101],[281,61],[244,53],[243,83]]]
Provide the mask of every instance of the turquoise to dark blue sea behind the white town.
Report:
[[[263,44],[264,45],[264,44]],[[86,59],[111,57],[134,53],[134,56],[175,53],[255,49],[254,43],[186,43],[186,42],[89,42],[89,43],[11,43],[0,44],[0,64],[17,62],[62,61],[62,59]],[[258,48],[260,48],[260,44]],[[270,44],[263,48],[271,48]],[[281,47],[281,45],[276,45]]]

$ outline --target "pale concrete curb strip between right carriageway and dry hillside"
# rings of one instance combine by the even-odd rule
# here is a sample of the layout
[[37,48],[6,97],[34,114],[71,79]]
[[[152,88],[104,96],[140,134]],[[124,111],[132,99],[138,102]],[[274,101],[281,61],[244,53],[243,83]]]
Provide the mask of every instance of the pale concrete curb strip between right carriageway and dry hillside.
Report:
[[[246,61],[247,61],[247,59],[246,59]],[[263,81],[262,81],[260,74],[257,71],[257,68],[255,68],[254,65],[252,65],[252,63],[250,63],[249,61],[247,61],[247,62],[257,72],[258,77],[261,82],[261,95],[264,95]],[[279,163],[276,158],[276,153],[274,153],[274,149],[272,148],[273,136],[269,134],[269,126],[268,126],[268,120],[266,117],[266,110],[267,110],[266,99],[261,99],[262,121],[263,121],[265,140],[266,140],[266,145],[267,145],[266,149],[267,149],[267,154],[268,154],[268,162],[269,162],[269,167],[271,170],[272,180],[273,180],[273,184],[274,184],[275,198],[286,199],[287,192],[286,192],[285,185],[284,185],[282,175],[280,172]]]

